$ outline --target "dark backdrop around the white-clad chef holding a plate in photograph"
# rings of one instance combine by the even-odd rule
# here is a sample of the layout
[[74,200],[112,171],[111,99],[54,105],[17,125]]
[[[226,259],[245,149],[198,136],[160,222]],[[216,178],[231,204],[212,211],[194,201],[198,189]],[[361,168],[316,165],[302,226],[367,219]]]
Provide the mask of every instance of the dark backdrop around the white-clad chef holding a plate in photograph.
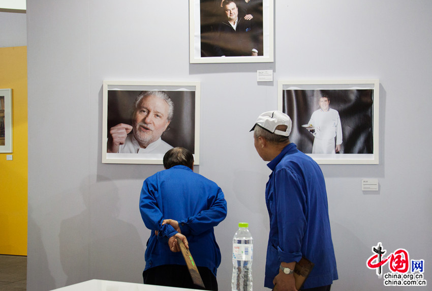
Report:
[[290,141],[303,153],[312,153],[314,136],[305,128],[312,113],[320,108],[319,98],[327,94],[330,108],[339,112],[342,124],[342,154],[373,154],[372,89],[358,90],[284,90],[283,112],[293,121]]

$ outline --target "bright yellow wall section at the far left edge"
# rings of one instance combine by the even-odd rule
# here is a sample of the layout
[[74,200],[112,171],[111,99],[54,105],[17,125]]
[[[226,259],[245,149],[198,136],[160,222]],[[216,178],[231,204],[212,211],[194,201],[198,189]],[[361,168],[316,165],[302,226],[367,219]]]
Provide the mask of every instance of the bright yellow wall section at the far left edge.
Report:
[[13,127],[13,152],[0,153],[0,254],[27,255],[27,47],[0,48],[0,89],[12,89]]

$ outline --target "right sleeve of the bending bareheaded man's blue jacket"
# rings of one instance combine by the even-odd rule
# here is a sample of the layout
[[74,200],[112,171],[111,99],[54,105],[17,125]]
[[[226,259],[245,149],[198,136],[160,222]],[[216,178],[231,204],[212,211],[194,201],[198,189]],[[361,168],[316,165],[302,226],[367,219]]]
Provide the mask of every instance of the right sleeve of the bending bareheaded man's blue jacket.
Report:
[[212,229],[227,216],[227,201],[222,189],[218,187],[215,195],[208,197],[209,208],[190,216],[185,220],[178,221],[181,233],[185,236],[199,235]]

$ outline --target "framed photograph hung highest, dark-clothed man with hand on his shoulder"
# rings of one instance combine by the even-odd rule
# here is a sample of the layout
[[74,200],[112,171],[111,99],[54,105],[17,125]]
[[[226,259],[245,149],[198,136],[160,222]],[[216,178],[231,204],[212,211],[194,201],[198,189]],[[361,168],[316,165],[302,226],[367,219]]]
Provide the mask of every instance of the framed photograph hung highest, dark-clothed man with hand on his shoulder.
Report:
[[273,62],[273,0],[189,0],[190,63]]

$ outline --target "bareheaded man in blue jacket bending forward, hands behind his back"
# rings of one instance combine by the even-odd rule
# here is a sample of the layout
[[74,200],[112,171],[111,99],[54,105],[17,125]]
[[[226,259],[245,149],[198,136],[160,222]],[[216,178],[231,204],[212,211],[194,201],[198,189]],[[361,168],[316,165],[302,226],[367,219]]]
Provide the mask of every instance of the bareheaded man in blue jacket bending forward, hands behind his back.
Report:
[[192,250],[206,290],[218,290],[221,251],[213,227],[227,216],[221,188],[193,171],[194,157],[184,148],[169,150],[165,170],[148,177],[140,196],[141,217],[151,230],[145,250],[144,284],[194,288],[175,237]]

